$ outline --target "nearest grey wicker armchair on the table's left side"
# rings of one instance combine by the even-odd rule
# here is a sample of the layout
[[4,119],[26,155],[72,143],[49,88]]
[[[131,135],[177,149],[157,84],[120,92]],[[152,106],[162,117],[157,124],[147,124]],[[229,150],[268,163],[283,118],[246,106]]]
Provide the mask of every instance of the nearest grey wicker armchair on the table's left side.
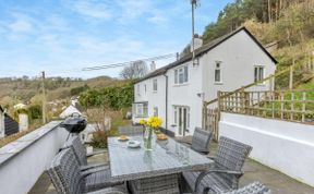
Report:
[[125,194],[125,185],[110,181],[110,171],[83,174],[73,149],[61,150],[47,169],[59,194]]

